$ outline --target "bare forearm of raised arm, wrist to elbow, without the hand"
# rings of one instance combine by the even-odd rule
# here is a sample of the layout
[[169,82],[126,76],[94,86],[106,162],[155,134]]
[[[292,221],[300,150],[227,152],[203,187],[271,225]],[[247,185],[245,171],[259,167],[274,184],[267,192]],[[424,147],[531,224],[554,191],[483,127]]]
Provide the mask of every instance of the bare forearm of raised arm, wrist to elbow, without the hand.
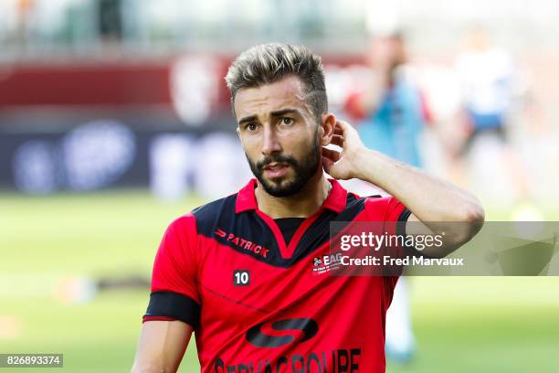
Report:
[[382,187],[421,221],[482,222],[480,201],[468,191],[374,150],[356,155],[357,178]]

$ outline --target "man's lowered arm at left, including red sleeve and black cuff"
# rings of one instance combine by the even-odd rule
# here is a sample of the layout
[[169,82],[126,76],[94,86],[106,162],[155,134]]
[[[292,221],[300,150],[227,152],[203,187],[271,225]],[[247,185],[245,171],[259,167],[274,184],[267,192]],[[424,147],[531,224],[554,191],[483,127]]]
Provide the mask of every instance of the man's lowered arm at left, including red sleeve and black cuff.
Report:
[[200,320],[196,285],[197,242],[192,214],[165,230],[153,262],[150,303],[132,372],[176,372]]

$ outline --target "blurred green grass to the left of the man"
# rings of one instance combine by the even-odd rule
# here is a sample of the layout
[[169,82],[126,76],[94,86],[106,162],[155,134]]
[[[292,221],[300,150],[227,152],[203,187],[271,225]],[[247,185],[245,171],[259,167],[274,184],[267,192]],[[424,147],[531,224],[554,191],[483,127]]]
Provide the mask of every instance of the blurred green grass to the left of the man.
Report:
[[[149,292],[64,304],[53,288],[69,276],[147,278],[165,227],[199,204],[194,197],[165,204],[135,190],[0,196],[0,316],[16,317],[20,329],[8,339],[0,331],[0,352],[61,352],[68,372],[130,370]],[[193,352],[183,371],[193,371]]]

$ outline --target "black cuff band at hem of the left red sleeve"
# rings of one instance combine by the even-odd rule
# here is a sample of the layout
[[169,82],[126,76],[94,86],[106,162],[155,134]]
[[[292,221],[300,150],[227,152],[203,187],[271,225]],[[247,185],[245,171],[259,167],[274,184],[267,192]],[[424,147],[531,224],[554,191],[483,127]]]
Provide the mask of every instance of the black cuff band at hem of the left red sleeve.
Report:
[[200,304],[174,292],[153,292],[144,316],[168,316],[196,327],[200,323]]

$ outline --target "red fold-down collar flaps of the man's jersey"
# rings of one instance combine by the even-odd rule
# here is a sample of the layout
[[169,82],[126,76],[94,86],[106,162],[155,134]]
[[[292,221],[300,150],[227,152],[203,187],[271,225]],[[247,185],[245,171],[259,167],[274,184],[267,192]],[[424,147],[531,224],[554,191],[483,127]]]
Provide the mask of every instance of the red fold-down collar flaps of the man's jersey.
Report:
[[[339,214],[343,211],[343,208],[345,208],[347,190],[335,179],[331,178],[328,179],[328,181],[332,184],[332,190],[324,202],[322,202],[322,208],[331,209]],[[255,187],[257,187],[257,180],[256,178],[252,178],[245,187],[238,191],[237,203],[235,206],[235,212],[237,214],[251,209],[258,209],[256,196],[254,194]]]

